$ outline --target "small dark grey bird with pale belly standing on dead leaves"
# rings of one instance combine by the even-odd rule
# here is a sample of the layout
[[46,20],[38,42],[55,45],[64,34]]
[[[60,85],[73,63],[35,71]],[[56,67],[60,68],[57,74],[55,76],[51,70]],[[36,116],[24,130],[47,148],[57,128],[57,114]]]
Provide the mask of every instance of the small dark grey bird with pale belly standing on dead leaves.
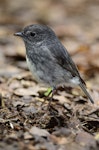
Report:
[[50,27],[34,24],[15,35],[25,43],[27,64],[38,83],[53,87],[53,91],[66,83],[79,85],[94,103],[75,63]]

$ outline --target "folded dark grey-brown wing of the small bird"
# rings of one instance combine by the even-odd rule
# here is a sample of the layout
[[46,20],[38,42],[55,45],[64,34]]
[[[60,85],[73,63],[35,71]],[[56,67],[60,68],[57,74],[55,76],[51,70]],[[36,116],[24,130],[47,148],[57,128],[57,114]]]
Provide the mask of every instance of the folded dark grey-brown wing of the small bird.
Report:
[[85,84],[71,56],[69,55],[68,51],[61,43],[57,45],[55,44],[55,46],[53,45],[53,47],[51,46],[50,50],[51,50],[53,57],[56,58],[55,60],[61,67],[69,71],[72,77],[78,77],[80,81],[83,84]]

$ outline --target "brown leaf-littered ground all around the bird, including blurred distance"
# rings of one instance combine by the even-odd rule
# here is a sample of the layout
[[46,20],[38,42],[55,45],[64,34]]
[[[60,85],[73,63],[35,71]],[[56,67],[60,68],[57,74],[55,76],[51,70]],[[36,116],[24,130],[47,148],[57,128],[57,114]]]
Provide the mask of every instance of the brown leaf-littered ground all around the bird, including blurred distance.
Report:
[[[44,91],[13,36],[49,25],[68,49],[94,104],[78,87],[60,87],[49,111]],[[0,150],[99,149],[99,1],[0,0]]]

